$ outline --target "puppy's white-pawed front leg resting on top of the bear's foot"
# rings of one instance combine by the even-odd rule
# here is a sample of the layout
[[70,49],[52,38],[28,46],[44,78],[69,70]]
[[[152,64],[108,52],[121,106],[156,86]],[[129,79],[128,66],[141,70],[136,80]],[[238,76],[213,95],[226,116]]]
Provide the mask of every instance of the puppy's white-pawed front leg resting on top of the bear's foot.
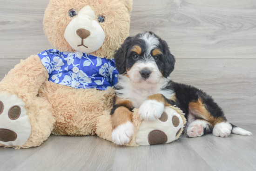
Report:
[[141,119],[152,121],[162,116],[166,105],[169,104],[162,94],[154,94],[142,103],[138,114]]

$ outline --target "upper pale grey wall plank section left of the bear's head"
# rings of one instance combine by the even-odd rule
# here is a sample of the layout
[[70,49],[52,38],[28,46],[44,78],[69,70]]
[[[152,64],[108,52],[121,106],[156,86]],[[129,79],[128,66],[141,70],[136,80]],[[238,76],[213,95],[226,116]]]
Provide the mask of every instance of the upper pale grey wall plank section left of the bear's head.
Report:
[[49,0],[0,0],[0,59],[26,59],[53,48],[43,32]]

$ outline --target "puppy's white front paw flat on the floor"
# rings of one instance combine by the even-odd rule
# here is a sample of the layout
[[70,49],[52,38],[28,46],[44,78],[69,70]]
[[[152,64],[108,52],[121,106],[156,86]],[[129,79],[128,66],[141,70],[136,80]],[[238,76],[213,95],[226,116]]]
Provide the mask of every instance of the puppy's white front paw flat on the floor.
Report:
[[134,125],[128,121],[125,124],[117,126],[112,131],[112,141],[117,145],[124,145],[130,141],[134,135]]

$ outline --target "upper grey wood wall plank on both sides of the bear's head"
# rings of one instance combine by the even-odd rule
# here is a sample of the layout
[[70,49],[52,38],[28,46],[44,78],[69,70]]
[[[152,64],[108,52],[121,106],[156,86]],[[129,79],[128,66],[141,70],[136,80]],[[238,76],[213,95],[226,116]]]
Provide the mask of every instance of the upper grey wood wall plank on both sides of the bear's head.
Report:
[[[42,25],[47,3],[0,0],[0,59],[52,48]],[[255,0],[134,0],[130,34],[159,34],[178,59],[256,59],[255,16]]]

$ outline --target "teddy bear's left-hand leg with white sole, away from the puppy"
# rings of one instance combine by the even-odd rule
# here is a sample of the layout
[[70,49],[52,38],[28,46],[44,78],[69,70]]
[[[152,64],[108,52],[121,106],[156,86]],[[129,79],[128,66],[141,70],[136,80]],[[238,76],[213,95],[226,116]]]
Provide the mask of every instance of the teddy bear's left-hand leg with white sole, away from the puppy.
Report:
[[55,118],[46,99],[36,97],[25,103],[16,95],[1,92],[0,106],[0,146],[35,147],[51,134]]

